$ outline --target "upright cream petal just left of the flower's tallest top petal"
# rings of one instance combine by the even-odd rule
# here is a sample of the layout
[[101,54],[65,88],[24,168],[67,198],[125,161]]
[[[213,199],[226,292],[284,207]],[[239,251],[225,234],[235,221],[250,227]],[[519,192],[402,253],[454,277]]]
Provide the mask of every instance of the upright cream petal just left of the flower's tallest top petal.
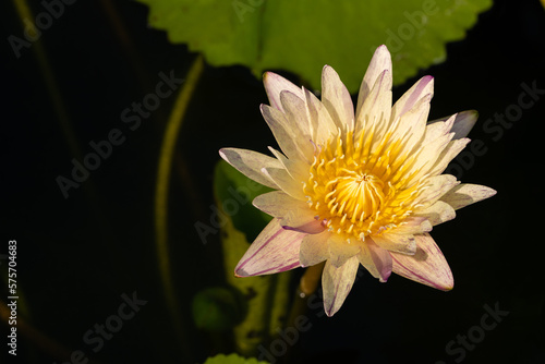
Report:
[[342,131],[354,130],[354,105],[344,84],[335,70],[326,65],[322,71],[322,102]]

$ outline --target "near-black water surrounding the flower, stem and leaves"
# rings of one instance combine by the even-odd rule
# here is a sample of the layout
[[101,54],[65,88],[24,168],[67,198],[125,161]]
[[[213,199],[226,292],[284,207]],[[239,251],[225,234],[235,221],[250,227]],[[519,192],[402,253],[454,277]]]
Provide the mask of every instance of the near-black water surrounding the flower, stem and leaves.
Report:
[[[16,361],[7,355],[8,326],[0,325],[5,362],[60,363],[62,354],[82,350],[99,363],[202,363],[229,352],[192,323],[195,292],[222,283],[218,236],[203,244],[194,223],[211,214],[220,147],[266,153],[266,145],[275,145],[258,110],[266,95],[245,68],[206,66],[185,117],[169,197],[170,258],[185,328],[181,343],[161,291],[153,214],[157,160],[175,96],[135,131],[120,114],[155,89],[159,72],[185,77],[196,54],[148,28],[147,12],[133,1],[77,1],[44,32],[39,44],[63,118],[36,58],[38,44],[19,59],[8,44],[8,35],[22,29],[11,3],[2,3],[0,254],[7,254],[9,240],[17,241],[17,288],[24,296],[19,318],[27,325],[19,327]],[[458,177],[498,194],[433,231],[456,287],[444,293],[397,276],[380,284],[364,274],[332,318],[322,316],[322,308],[308,312],[312,328],[301,335],[293,362],[545,363],[544,9],[538,1],[496,1],[447,50],[445,63],[397,86],[395,98],[432,74],[432,119],[467,109],[481,114],[470,137],[486,151]],[[541,89],[540,99],[493,138],[483,125],[512,110],[522,84]],[[56,178],[69,177],[72,158],[93,151],[89,143],[107,138],[112,129],[125,142],[65,199]],[[0,262],[4,279],[8,260]],[[121,295],[134,291],[147,303],[94,353],[84,332],[117,314]],[[446,350],[459,335],[479,336],[485,305],[508,314],[482,331],[474,347]]]

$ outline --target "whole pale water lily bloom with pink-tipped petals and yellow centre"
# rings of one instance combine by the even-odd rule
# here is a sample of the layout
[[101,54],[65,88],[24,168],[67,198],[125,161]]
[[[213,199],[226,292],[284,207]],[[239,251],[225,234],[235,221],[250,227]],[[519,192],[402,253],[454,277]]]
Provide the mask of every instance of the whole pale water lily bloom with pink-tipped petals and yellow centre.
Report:
[[253,204],[274,219],[235,267],[239,277],[269,275],[325,260],[324,308],[334,315],[363,265],[382,282],[393,271],[439,290],[451,270],[429,235],[455,210],[493,196],[441,174],[470,139],[476,111],[427,122],[434,78],[424,76],[393,106],[391,58],[375,51],[354,107],[331,66],[322,100],[278,74],[264,84],[261,111],[281,151],[274,157],[222,148],[221,157],[276,191]]

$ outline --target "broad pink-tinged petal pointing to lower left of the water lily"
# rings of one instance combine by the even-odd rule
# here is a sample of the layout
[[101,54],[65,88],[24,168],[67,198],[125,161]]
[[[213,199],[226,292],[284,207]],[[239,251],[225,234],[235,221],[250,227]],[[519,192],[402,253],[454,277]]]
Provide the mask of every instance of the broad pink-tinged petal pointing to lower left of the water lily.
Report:
[[272,219],[234,268],[237,277],[271,275],[300,266],[299,250],[305,233],[286,230]]

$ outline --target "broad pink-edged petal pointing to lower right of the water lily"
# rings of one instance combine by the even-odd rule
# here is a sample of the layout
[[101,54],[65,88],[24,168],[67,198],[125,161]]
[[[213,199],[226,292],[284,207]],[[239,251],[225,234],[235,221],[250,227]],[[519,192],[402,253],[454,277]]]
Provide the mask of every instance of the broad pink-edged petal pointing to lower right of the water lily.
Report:
[[441,251],[428,233],[414,236],[416,253],[403,255],[390,253],[392,271],[419,283],[449,291],[455,287],[455,279]]

